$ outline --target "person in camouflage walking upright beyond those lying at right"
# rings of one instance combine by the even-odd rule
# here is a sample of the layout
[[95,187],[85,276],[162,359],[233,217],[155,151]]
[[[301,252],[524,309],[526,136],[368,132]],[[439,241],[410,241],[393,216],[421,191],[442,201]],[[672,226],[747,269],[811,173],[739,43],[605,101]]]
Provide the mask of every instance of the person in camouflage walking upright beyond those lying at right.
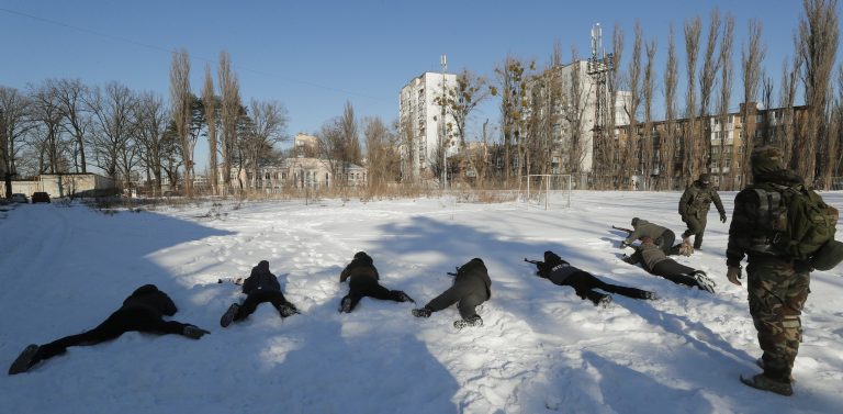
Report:
[[682,221],[688,225],[688,230],[682,234],[682,238],[686,239],[694,235],[694,248],[702,246],[702,234],[706,232],[708,210],[712,201],[720,213],[720,221],[726,222],[726,210],[723,210],[720,195],[717,190],[709,187],[708,182],[708,175],[700,175],[699,179],[694,181],[679,199],[679,215]]

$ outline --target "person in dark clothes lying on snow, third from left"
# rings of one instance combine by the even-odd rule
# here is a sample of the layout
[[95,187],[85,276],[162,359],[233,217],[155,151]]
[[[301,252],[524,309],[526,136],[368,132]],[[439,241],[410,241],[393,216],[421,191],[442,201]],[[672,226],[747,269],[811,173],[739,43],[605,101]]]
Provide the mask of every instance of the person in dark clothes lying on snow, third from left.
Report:
[[406,293],[400,290],[389,290],[379,282],[380,275],[374,261],[366,251],[358,251],[351,262],[342,269],[339,282],[348,280],[348,294],[339,301],[339,312],[351,313],[361,299],[366,296],[395,302],[413,302]]

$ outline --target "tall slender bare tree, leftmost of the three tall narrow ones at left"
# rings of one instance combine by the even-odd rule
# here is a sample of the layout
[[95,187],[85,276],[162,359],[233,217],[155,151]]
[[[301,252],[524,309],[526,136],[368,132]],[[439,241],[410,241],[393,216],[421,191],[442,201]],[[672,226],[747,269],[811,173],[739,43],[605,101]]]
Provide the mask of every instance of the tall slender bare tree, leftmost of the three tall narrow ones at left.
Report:
[[172,120],[176,124],[176,135],[181,142],[181,156],[184,158],[184,195],[193,197],[193,147],[191,142],[191,93],[190,93],[190,56],[188,51],[172,53],[170,65],[170,102]]

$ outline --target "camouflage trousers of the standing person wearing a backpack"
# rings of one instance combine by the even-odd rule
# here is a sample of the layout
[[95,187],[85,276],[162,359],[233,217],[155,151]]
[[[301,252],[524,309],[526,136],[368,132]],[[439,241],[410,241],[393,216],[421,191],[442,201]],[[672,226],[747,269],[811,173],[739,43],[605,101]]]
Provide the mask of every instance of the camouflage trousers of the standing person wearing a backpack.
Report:
[[802,342],[799,315],[808,299],[810,275],[779,264],[750,262],[746,276],[750,314],[764,351],[764,374],[789,382]]

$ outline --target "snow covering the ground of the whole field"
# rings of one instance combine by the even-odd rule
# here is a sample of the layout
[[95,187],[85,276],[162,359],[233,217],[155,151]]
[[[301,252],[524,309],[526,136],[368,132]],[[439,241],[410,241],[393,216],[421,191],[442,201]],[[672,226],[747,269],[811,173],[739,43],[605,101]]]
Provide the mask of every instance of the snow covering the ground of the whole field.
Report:
[[[721,193],[731,217],[734,193]],[[168,292],[200,340],[128,333],[0,374],[0,413],[831,413],[843,406],[843,268],[813,272],[795,395],[750,389],[760,356],[745,288],[726,280],[728,224],[709,216],[702,250],[717,294],[619,259],[633,216],[674,230],[679,193],[575,192],[570,209],[453,200],[225,202],[103,214],[20,205],[0,219],[0,361],[99,324],[144,283]],[[843,193],[825,193],[843,210]],[[211,213],[211,214],[209,214]],[[839,225],[839,228],[843,226]],[[838,235],[840,239],[843,233]],[[657,301],[615,295],[608,309],[533,276],[525,257],[552,249],[572,265]],[[368,251],[382,284],[418,305],[446,275],[485,260],[485,325],[458,332],[456,307],[428,320],[412,304],[363,299],[337,313],[339,272]],[[227,328],[243,298],[221,277],[267,259],[302,311],[269,305]]]

